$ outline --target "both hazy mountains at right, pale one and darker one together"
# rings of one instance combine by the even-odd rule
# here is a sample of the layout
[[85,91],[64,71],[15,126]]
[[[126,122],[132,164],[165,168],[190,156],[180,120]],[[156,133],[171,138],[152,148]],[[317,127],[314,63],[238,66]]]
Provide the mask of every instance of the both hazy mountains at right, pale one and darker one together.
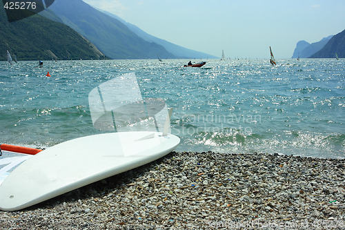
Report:
[[338,57],[345,57],[345,30],[312,44],[298,41],[292,58],[333,58],[335,53]]

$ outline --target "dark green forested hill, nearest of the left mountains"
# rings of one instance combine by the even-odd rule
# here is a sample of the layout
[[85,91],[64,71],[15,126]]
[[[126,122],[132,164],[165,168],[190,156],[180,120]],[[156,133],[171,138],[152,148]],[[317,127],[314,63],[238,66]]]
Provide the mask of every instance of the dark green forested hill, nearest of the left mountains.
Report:
[[18,60],[104,58],[90,41],[62,23],[40,15],[9,23],[0,1],[0,60],[7,60],[6,50]]

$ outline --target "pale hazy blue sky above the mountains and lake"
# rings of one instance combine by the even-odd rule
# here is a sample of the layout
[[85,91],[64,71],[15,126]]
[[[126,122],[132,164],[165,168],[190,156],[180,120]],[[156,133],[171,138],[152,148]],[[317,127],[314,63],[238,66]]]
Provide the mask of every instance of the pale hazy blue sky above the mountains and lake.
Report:
[[83,0],[148,34],[221,57],[293,56],[345,29],[345,0]]

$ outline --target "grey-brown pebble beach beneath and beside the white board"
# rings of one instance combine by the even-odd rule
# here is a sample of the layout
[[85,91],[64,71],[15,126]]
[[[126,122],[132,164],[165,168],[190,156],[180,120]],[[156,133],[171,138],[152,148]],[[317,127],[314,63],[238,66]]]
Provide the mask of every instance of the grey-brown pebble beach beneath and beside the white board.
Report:
[[175,153],[34,207],[0,229],[345,229],[345,160]]

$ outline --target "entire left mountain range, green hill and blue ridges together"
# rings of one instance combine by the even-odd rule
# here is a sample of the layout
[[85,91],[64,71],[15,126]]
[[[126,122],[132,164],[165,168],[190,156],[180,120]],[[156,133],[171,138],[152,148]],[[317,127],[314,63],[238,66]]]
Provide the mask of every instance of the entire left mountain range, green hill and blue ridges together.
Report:
[[0,6],[0,60],[6,60],[6,50],[18,60],[216,58],[148,35],[81,0],[55,1],[39,15],[12,23]]

